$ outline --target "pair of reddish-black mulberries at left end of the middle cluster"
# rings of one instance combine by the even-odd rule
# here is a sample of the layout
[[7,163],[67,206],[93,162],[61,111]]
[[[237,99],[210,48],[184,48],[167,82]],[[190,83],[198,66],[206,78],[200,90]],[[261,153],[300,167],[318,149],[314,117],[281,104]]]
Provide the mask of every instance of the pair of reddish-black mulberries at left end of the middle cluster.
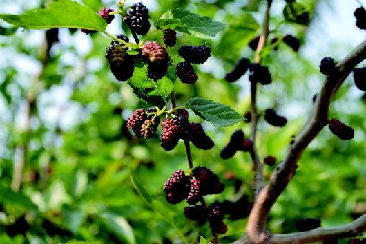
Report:
[[157,126],[160,124],[160,118],[154,114],[156,108],[152,107],[144,111],[144,109],[137,109],[133,115],[128,119],[127,128],[131,129],[137,138],[151,138],[153,137]]

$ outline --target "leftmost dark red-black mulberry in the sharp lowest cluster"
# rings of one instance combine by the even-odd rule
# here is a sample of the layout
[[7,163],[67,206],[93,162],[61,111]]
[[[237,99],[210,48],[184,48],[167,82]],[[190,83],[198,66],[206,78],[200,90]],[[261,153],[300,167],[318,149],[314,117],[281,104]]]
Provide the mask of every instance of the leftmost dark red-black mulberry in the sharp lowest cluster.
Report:
[[189,194],[189,185],[189,177],[184,174],[184,171],[180,169],[175,171],[164,184],[165,198],[168,203],[177,204],[186,199]]

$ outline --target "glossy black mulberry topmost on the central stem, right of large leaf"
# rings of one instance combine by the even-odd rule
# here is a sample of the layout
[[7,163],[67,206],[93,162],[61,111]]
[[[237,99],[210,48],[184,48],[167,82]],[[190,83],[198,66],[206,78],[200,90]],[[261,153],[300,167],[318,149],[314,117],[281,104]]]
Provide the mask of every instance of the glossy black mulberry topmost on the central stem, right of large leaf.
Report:
[[142,3],[133,3],[133,6],[128,10],[128,15],[124,16],[123,20],[139,35],[145,35],[150,30],[150,22],[148,19],[148,9]]

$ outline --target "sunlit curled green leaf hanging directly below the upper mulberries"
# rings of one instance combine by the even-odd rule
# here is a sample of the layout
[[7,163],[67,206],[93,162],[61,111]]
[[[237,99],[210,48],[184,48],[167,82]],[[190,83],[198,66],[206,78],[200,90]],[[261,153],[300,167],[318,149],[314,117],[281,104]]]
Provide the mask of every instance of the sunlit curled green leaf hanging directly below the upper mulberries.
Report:
[[169,66],[165,76],[154,82],[147,77],[148,63],[139,58],[134,61],[135,71],[127,83],[140,99],[153,106],[164,106],[175,86],[175,79],[177,79],[175,68]]

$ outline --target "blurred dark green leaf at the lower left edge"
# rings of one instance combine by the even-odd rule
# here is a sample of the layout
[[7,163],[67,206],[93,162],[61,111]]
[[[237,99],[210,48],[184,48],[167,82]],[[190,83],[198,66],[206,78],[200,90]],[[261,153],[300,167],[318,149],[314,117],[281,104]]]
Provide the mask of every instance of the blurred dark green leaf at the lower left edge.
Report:
[[0,203],[9,203],[10,205],[17,205],[23,209],[30,210],[40,214],[37,205],[35,205],[28,196],[20,192],[12,191],[8,187],[1,186],[0,188]]

